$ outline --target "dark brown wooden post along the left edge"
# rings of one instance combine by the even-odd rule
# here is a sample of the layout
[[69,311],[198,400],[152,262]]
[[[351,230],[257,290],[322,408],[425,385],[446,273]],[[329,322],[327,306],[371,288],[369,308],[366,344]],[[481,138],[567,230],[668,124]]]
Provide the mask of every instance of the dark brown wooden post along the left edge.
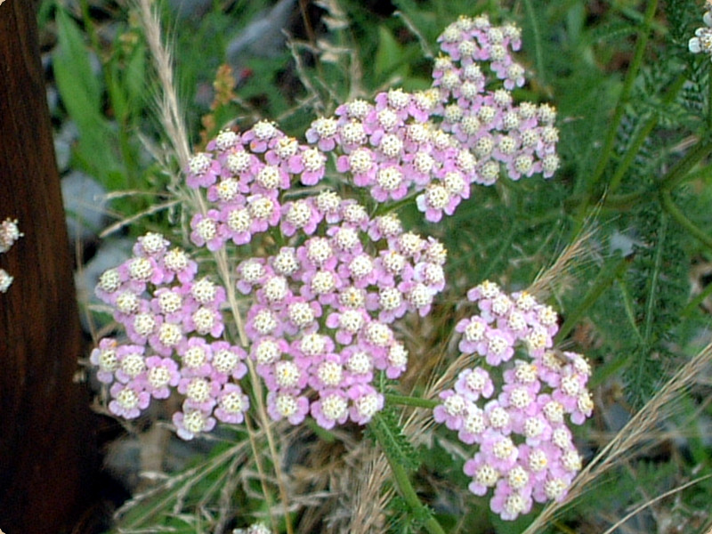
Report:
[[35,2],[0,2],[0,220],[24,232],[0,255],[0,529],[81,532],[97,457],[73,381],[81,332],[37,41]]

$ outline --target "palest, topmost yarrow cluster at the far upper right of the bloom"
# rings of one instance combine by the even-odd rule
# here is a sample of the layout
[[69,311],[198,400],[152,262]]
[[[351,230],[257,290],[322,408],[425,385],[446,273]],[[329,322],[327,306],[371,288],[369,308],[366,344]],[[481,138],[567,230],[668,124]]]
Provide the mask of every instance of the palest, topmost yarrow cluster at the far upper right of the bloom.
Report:
[[437,112],[441,128],[472,152],[474,182],[489,185],[502,168],[512,180],[539,173],[551,177],[559,166],[556,112],[548,104],[517,104],[511,93],[525,82],[524,68],[511,54],[522,45],[520,29],[492,26],[483,15],[461,17],[439,41],[446,55],[433,69],[433,85],[441,94]]

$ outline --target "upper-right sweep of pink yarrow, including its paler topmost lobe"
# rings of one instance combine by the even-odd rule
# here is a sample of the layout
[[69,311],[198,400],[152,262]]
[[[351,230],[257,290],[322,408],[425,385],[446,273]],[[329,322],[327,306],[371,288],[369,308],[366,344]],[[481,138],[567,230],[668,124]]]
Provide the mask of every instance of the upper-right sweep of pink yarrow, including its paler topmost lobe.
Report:
[[511,94],[525,81],[511,55],[521,46],[519,28],[462,17],[439,41],[445,55],[435,61],[430,90],[350,101],[306,133],[376,201],[416,193],[430,222],[453,214],[473,183],[491,185],[502,171],[513,180],[550,177],[559,166],[554,109],[516,105]]

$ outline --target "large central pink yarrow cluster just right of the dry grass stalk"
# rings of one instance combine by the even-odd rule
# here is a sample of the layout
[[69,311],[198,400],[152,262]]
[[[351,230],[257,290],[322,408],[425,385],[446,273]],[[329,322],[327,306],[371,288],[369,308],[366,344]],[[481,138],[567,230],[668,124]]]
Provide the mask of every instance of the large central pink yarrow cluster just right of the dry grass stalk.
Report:
[[403,231],[395,215],[370,219],[333,192],[304,201],[318,214],[318,231],[239,263],[238,288],[255,295],[247,312],[250,357],[273,419],[364,425],[384,405],[376,374],[397,378],[408,363],[392,322],[430,311],[444,287],[446,252]]

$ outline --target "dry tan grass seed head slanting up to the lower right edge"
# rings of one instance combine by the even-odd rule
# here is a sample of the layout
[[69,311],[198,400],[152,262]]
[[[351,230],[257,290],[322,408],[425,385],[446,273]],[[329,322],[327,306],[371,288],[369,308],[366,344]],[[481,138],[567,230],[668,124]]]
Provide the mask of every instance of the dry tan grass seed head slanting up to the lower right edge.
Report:
[[534,534],[542,530],[554,519],[555,514],[578,498],[588,485],[598,479],[603,473],[618,465],[638,446],[649,439],[650,431],[658,425],[671,409],[675,407],[675,400],[681,392],[689,387],[700,376],[702,370],[712,360],[712,344],[700,351],[692,360],[680,368],[667,384],[643,406],[634,417],[628,421],[611,442],[599,452],[593,460],[578,473],[578,477],[571,484],[569,493],[560,502],[553,502],[546,506],[541,514],[524,530],[523,534]]

